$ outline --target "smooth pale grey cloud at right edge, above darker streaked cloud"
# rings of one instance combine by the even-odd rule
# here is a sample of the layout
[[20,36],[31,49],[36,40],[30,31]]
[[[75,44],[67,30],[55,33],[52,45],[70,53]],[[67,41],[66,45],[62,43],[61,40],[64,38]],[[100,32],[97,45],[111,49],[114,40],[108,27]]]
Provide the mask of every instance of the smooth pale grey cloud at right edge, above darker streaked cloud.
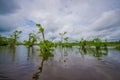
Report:
[[112,10],[104,12],[99,19],[97,19],[93,27],[95,30],[104,30],[115,27],[120,27],[120,10]]

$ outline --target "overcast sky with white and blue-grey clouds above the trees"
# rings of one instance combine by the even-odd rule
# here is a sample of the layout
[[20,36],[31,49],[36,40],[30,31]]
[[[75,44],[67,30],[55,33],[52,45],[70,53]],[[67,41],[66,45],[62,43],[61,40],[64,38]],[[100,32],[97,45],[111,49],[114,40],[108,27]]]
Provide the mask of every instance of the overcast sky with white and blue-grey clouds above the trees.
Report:
[[21,30],[20,40],[45,28],[46,39],[120,39],[120,0],[0,0],[0,34]]

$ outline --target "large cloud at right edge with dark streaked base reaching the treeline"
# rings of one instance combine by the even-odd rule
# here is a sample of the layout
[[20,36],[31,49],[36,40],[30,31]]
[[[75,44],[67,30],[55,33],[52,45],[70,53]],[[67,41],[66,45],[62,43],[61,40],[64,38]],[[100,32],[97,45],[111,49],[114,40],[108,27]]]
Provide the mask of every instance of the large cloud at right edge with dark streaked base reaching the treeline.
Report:
[[[94,31],[94,36],[101,38],[115,38],[116,35],[120,34],[120,10],[111,10],[104,12],[98,19],[96,19],[90,26],[91,31]],[[120,39],[119,36],[116,36]]]

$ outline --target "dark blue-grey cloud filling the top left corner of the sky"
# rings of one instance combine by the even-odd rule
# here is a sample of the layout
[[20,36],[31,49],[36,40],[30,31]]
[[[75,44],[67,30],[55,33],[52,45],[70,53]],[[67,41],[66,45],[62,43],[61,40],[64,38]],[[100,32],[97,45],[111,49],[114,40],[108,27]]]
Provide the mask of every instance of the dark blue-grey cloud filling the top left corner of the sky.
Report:
[[0,14],[9,14],[19,9],[15,0],[0,0]]

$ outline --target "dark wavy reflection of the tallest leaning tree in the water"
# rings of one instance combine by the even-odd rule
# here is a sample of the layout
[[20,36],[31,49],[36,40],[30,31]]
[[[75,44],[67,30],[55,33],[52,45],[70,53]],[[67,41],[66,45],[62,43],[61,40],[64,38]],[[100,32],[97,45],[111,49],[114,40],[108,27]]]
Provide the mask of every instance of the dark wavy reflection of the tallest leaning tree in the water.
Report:
[[53,56],[54,55],[50,51],[48,51],[48,50],[47,51],[46,50],[41,51],[40,57],[42,58],[42,61],[41,61],[40,67],[38,68],[38,71],[35,74],[33,74],[33,79],[34,80],[38,80],[39,79],[39,76],[40,76],[40,74],[42,73],[42,70],[43,70],[44,62],[48,61],[49,58],[53,57]]

